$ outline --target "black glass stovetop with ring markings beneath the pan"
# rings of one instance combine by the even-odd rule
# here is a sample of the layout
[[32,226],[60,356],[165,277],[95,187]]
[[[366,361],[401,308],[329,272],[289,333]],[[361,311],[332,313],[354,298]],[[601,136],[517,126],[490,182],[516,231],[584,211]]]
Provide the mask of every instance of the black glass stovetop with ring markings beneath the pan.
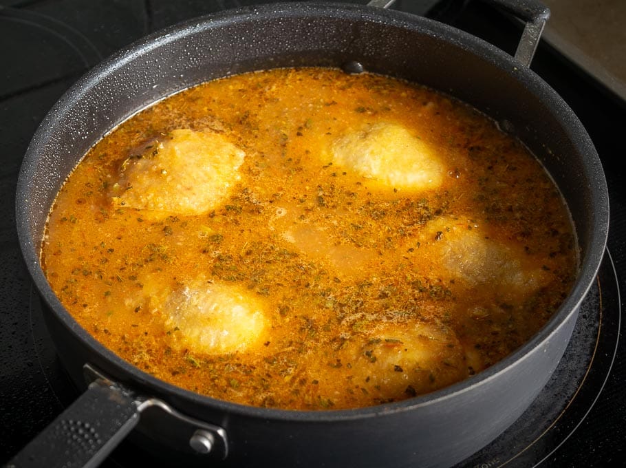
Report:
[[[37,125],[65,89],[120,47],[184,19],[255,3],[269,2],[0,0],[0,462],[76,396],[43,325],[14,226],[17,174]],[[602,8],[603,2],[594,4]],[[480,1],[398,0],[393,8],[453,24],[510,53],[519,38],[515,21]],[[570,18],[574,13],[568,12]],[[626,350],[620,342],[625,327],[620,289],[626,278],[626,191],[620,159],[626,153],[626,101],[615,92],[619,87],[584,69],[588,62],[563,56],[567,51],[554,39],[558,31],[548,36],[532,70],[574,109],[603,162],[611,203],[607,253],[546,388],[519,421],[459,467],[623,466]],[[159,465],[151,454],[122,443],[104,465],[146,462]]]

